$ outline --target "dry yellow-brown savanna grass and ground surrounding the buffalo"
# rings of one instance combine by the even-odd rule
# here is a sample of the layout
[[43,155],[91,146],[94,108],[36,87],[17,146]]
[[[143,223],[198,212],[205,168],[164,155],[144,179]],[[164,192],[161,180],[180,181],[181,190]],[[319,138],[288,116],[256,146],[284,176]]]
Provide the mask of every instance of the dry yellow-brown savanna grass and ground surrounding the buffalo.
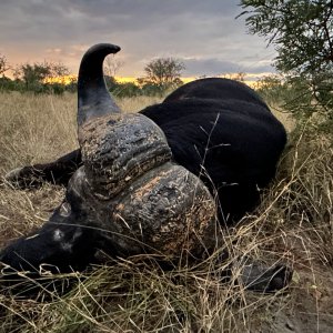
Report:
[[[75,97],[0,94],[0,176],[47,162],[77,147]],[[157,102],[121,100],[137,111]],[[0,332],[333,332],[333,148],[311,124],[292,131],[276,179],[262,204],[224,230],[230,256],[219,253],[192,268],[162,271],[153,258],[57,276],[72,289],[50,289],[39,300],[0,293]],[[64,189],[14,190],[1,181],[0,248],[48,220]],[[222,249],[221,251],[225,250]],[[232,265],[246,254],[294,270],[291,285],[275,294],[245,291]],[[221,276],[232,266],[232,281]],[[46,272],[44,279],[50,279]],[[59,291],[59,289],[58,289]]]

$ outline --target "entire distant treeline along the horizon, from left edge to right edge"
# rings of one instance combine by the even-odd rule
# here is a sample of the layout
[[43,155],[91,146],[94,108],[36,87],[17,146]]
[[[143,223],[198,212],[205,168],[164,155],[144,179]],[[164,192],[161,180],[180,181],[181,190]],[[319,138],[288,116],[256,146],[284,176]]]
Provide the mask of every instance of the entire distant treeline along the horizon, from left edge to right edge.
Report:
[[[162,97],[183,84],[181,73],[184,64],[174,58],[150,61],[144,67],[144,77],[137,79],[135,83],[117,81],[118,68],[117,62],[105,62],[104,79],[109,91],[117,98]],[[11,71],[13,79],[6,77],[7,71]],[[0,54],[1,74],[0,91],[62,94],[75,92],[78,88],[77,78],[70,75],[69,69],[62,63],[44,61],[12,68]],[[224,77],[244,81],[245,73]],[[296,118],[306,120],[313,113],[320,113],[333,121],[333,75],[329,70],[313,75],[269,75],[259,80],[254,88],[272,105],[292,112]]]

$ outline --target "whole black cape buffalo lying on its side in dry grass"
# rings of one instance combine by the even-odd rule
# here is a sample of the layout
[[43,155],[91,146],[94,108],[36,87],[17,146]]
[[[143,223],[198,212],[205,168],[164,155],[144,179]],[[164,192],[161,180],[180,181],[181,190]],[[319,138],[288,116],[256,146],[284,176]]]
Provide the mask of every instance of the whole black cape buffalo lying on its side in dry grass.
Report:
[[275,174],[285,130],[252,89],[201,79],[160,104],[121,113],[102,71],[119,50],[97,44],[81,61],[80,150],[7,176],[21,185],[33,176],[70,179],[50,220],[2,251],[14,270],[83,269],[97,249],[198,258],[219,245],[216,215],[224,225],[243,216]]

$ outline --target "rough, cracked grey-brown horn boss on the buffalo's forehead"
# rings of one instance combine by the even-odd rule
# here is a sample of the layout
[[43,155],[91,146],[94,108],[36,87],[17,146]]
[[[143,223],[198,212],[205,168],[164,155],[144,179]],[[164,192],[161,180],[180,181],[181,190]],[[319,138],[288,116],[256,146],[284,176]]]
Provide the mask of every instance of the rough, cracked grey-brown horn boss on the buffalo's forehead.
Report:
[[108,114],[84,123],[79,138],[87,183],[102,211],[99,228],[120,254],[196,255],[214,245],[212,195],[171,162],[164,134],[150,119]]

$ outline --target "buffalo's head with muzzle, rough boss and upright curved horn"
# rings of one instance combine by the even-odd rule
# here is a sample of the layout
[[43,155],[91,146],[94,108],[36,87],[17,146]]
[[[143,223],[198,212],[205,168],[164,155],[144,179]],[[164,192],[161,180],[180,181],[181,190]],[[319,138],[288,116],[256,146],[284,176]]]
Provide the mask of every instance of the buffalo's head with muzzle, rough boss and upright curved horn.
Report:
[[109,94],[102,64],[119,47],[84,54],[78,81],[78,138],[83,167],[65,199],[36,233],[9,245],[0,260],[16,270],[84,266],[95,248],[110,254],[193,255],[214,246],[215,203],[202,181],[172,162],[161,129],[122,113]]

